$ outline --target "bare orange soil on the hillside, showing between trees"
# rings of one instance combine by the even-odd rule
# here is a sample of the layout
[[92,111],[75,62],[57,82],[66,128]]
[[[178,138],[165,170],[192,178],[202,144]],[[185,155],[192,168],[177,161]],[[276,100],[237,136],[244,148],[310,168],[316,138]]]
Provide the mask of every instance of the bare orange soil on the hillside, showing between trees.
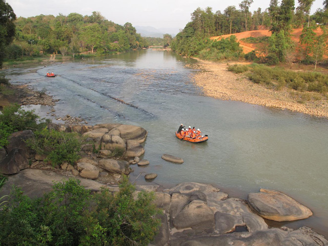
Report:
[[[322,34],[322,30],[320,28],[317,28],[317,30],[314,31],[317,35]],[[302,34],[302,28],[293,29],[291,35],[292,40],[294,42],[299,42],[299,37]],[[243,53],[247,54],[251,52],[252,50],[256,49],[257,44],[249,44],[242,42],[240,39],[247,38],[247,37],[264,37],[264,36],[271,36],[271,32],[269,30],[254,30],[254,31],[247,31],[247,32],[240,32],[240,33],[234,33],[234,34],[226,34],[221,36],[214,36],[211,37],[212,40],[220,40],[221,38],[227,38],[231,35],[235,35],[240,46],[243,49]]]

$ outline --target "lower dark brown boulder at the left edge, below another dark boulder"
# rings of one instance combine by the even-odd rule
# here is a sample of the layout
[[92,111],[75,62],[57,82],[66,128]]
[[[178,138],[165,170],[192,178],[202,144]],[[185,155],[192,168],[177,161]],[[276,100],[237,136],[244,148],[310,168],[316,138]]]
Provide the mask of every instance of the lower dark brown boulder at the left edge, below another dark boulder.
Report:
[[28,159],[24,152],[18,149],[12,149],[9,154],[0,161],[0,173],[2,174],[15,174],[28,167]]

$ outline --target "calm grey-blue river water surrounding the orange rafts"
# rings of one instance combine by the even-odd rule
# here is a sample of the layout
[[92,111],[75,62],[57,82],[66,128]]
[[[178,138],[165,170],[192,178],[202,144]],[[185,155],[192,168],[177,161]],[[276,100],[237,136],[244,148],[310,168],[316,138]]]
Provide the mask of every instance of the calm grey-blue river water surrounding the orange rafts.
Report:
[[[12,84],[45,88],[59,99],[54,107],[57,118],[70,114],[89,125],[117,122],[145,128],[143,158],[150,165],[131,166],[131,180],[142,172],[136,182],[145,184],[144,175],[155,172],[154,182],[165,187],[188,181],[211,183],[244,199],[260,188],[278,190],[314,215],[272,226],[306,225],[328,237],[328,119],[206,97],[191,77],[201,71],[185,67],[191,63],[197,61],[142,50],[2,73]],[[47,78],[48,71],[58,76]],[[32,108],[50,117],[49,107]],[[209,140],[192,144],[177,139],[174,132],[181,123],[200,128]],[[165,161],[163,153],[185,162]]]

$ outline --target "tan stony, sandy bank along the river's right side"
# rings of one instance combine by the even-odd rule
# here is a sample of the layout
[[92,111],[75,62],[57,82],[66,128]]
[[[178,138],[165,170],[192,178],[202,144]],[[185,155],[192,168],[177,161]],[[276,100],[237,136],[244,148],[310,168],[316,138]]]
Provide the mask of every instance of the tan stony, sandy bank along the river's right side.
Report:
[[[222,100],[243,101],[244,103],[288,109],[318,117],[328,117],[328,101],[312,100],[298,103],[299,98],[293,90],[281,91],[267,89],[254,84],[243,74],[234,74],[227,70],[226,63],[199,60],[196,65],[202,72],[196,73],[193,79],[207,96]],[[292,92],[292,93],[291,93]],[[309,92],[310,93],[310,92]]]

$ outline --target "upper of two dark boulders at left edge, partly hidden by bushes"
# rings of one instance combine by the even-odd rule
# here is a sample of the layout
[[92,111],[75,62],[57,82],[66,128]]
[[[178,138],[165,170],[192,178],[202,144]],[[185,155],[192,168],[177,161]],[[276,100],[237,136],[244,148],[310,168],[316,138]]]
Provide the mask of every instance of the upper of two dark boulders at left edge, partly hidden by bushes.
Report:
[[26,158],[30,158],[33,156],[31,149],[27,146],[26,140],[29,138],[33,138],[34,133],[31,130],[19,131],[12,133],[8,138],[8,153],[13,149],[18,149],[19,153]]

